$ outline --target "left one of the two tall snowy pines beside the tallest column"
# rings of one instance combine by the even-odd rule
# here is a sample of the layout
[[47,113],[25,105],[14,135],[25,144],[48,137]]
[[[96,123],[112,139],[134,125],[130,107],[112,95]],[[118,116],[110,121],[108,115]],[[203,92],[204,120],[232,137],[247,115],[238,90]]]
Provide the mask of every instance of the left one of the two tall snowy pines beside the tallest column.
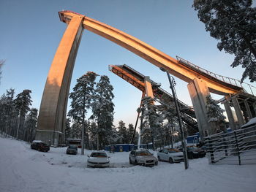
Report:
[[[83,133],[85,133],[86,147],[89,145],[89,134],[85,126],[85,118],[87,110],[91,106],[91,99],[94,95],[94,85],[97,74],[94,72],[87,72],[82,77],[78,78],[77,84],[73,88],[72,93],[69,94],[71,101],[71,110],[68,115],[72,117],[76,123],[82,125],[82,140]],[[84,154],[82,145],[82,155]]]

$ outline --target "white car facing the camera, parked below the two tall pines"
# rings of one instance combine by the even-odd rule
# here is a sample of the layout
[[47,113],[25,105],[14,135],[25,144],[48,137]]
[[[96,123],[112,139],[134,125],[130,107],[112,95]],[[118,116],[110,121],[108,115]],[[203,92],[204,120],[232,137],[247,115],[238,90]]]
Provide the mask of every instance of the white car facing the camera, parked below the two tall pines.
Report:
[[109,167],[110,160],[105,151],[94,151],[91,155],[88,155],[87,166],[88,167]]

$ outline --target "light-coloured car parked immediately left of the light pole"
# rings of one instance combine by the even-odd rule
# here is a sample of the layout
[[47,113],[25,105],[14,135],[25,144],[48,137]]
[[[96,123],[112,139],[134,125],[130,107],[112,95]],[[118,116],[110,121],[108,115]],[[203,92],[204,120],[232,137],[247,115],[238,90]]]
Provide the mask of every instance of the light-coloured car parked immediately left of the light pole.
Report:
[[177,149],[163,149],[157,153],[158,161],[169,161],[170,164],[184,161],[183,153]]

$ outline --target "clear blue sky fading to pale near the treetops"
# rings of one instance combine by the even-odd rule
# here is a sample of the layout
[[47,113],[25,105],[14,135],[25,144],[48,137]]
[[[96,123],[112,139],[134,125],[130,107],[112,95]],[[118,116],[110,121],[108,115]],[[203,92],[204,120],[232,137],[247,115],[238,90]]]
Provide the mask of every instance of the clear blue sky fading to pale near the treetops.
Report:
[[[167,55],[178,55],[211,72],[238,80],[244,72],[230,67],[233,55],[217,49],[217,40],[198,20],[191,0],[0,0],[0,59],[6,61],[0,95],[9,88],[15,88],[16,94],[30,89],[33,107],[39,109],[51,61],[67,27],[59,20],[62,9],[118,28]],[[115,94],[115,124],[119,120],[135,123],[141,92],[108,71],[108,65],[120,64],[150,76],[170,91],[166,74],[156,66],[90,31],[83,31],[70,88],[87,71],[108,75]],[[176,82],[178,99],[192,105],[187,83],[177,78]]]

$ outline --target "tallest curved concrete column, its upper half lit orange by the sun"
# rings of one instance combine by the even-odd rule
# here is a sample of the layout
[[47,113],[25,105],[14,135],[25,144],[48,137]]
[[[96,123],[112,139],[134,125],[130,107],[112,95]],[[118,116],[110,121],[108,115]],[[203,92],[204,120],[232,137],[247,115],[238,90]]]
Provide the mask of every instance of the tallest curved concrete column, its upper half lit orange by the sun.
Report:
[[64,142],[67,99],[75,58],[83,33],[83,17],[73,17],[50,66],[42,94],[36,139],[58,145]]

